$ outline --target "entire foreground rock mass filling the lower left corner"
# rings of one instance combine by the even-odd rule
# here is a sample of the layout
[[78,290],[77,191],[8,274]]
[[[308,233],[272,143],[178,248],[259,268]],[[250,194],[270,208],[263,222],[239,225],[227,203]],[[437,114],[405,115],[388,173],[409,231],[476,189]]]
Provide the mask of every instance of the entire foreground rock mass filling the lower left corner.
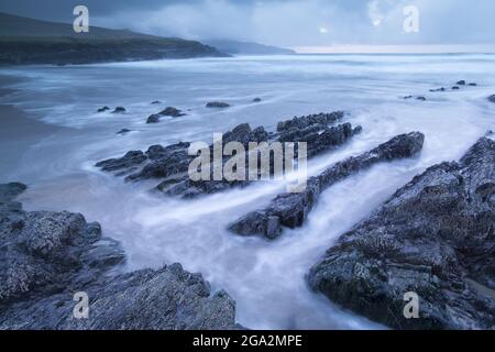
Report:
[[[179,264],[113,274],[124,261],[98,223],[26,212],[22,184],[0,185],[0,329],[234,329],[235,304]],[[112,271],[113,270],[113,271]],[[74,294],[89,298],[77,319]]]

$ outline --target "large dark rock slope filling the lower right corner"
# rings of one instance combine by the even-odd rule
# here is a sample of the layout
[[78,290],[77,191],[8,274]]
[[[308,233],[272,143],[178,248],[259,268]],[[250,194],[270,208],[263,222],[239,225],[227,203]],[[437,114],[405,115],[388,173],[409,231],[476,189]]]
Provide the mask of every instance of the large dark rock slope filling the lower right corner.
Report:
[[[495,326],[495,142],[416,176],[342,235],[308,283],[334,302],[397,329]],[[405,319],[404,295],[419,296]]]

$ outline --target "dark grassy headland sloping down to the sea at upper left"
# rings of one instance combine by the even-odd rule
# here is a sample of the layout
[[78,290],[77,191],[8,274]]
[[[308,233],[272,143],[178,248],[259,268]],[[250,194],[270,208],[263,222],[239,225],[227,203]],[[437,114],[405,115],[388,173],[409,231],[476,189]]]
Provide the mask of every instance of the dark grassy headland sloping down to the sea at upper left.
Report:
[[72,24],[0,13],[0,65],[89,64],[160,58],[227,56],[195,41],[166,38],[125,30]]

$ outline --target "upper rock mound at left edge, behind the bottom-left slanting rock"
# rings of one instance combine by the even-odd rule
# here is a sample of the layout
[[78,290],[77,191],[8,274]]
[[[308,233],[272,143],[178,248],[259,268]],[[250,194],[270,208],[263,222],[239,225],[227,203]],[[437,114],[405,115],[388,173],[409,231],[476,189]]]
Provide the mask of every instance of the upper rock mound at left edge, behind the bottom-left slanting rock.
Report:
[[25,212],[13,201],[24,185],[1,185],[0,189],[0,311],[12,302],[58,293],[78,275],[99,275],[105,268],[89,265],[91,249],[107,245],[114,263],[123,261],[120,249],[97,243],[101,240],[98,223],[67,211]]

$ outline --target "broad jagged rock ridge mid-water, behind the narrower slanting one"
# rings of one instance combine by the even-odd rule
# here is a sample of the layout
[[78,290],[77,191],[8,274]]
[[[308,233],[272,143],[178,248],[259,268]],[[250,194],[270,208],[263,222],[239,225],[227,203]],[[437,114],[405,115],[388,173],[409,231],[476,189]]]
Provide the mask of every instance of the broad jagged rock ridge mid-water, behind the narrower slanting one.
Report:
[[[278,123],[277,133],[268,133],[263,127],[251,129],[242,123],[223,134],[223,146],[229,142],[239,142],[249,150],[250,142],[307,142],[308,157],[330,151],[349,141],[361,132],[361,127],[353,128],[350,123],[331,125],[342,119],[343,112],[320,113]],[[153,145],[145,153],[131,151],[121,158],[99,162],[97,167],[106,172],[117,172],[118,176],[127,176],[128,182],[143,179],[160,179],[155,190],[174,197],[193,198],[200,195],[219,193],[232,187],[243,187],[246,180],[199,180],[189,179],[188,168],[194,156],[188,154],[190,143],[162,146]],[[210,151],[213,145],[210,145]],[[212,153],[212,152],[211,152]],[[297,151],[296,151],[297,156]],[[248,156],[246,156],[248,157]],[[229,158],[224,158],[226,163]],[[272,161],[273,163],[273,161]],[[271,165],[273,167],[273,165]],[[212,170],[211,170],[212,172]]]

